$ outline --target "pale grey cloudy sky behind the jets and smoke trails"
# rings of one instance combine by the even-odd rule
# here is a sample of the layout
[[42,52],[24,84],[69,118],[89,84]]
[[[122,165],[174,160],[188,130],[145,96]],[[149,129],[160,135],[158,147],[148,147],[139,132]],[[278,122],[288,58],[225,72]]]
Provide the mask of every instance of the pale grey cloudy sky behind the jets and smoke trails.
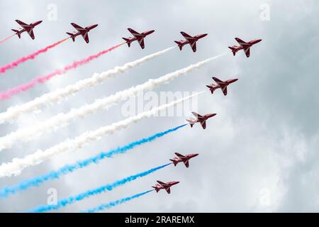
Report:
[[[49,4],[57,6],[57,21],[47,19]],[[270,21],[260,20],[262,4],[270,6]],[[172,187],[172,194],[150,193],[107,212],[319,211],[318,8],[319,4],[314,0],[135,1],[134,4],[133,1],[1,1],[1,38],[11,35],[11,28],[18,28],[15,19],[27,23],[43,19],[43,23],[35,28],[35,40],[23,33],[21,40],[14,37],[1,44],[0,65],[65,38],[65,32],[74,31],[69,25],[71,22],[81,26],[99,23],[99,27],[89,33],[88,45],[80,37],[76,43],[67,40],[35,60],[2,74],[1,91],[121,43],[121,37],[130,35],[126,28],[156,30],[145,40],[145,50],[137,43],[131,48],[118,48],[43,86],[1,101],[1,111],[90,77],[94,72],[103,72],[168,48],[174,45],[173,40],[181,38],[179,31],[191,35],[209,34],[198,42],[196,53],[188,46],[181,52],[175,48],[60,104],[47,106],[39,114],[25,114],[15,123],[2,124],[1,136],[149,78],[228,52],[227,47],[236,44],[234,37],[247,41],[262,38],[262,42],[251,49],[248,59],[243,52],[238,52],[235,57],[228,52],[201,70],[155,89],[157,93],[199,92],[205,89],[205,84],[212,82],[213,75],[220,79],[239,78],[229,87],[228,96],[216,91],[213,96],[207,92],[198,99],[200,113],[218,114],[208,121],[206,131],[200,126],[182,128],[125,155],[1,199],[0,211],[25,211],[45,204],[50,188],[57,189],[58,198],[62,199],[111,183],[167,163],[174,151],[200,155],[191,160],[189,169],[183,165],[169,166],[113,192],[93,196],[60,211],[77,212],[144,192],[157,179],[181,183]],[[0,153],[0,160],[9,162],[13,157],[24,157],[39,148],[50,148],[66,138],[74,138],[84,131],[123,118],[121,105],[118,105],[75,119],[55,133],[47,133],[30,143],[16,143],[10,150]],[[184,116],[146,119],[81,150],[57,155],[36,167],[29,167],[18,177],[0,179],[0,187],[179,126],[184,119]]]

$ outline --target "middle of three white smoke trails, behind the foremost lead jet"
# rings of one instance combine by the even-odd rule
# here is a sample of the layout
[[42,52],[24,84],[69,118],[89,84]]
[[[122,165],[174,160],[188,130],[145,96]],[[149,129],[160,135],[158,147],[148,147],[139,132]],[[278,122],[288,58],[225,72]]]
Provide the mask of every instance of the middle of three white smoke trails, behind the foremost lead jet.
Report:
[[[221,55],[218,55],[217,57],[220,56]],[[177,70],[169,74],[165,74],[164,76],[159,77],[157,79],[149,79],[147,82],[143,84],[139,84],[135,87],[130,87],[129,89],[125,89],[121,92],[116,92],[116,94],[107,96],[106,98],[96,99],[96,101],[94,101],[94,103],[92,104],[86,104],[84,106],[81,106],[79,109],[72,109],[66,114],[57,114],[56,116],[53,116],[52,118],[49,118],[45,121],[39,121],[38,123],[35,123],[32,127],[21,128],[18,131],[9,133],[8,135],[5,135],[4,137],[0,138],[0,150],[11,148],[11,146],[14,143],[16,143],[17,140],[33,140],[33,138],[43,135],[43,133],[55,131],[62,126],[67,126],[69,121],[72,121],[75,118],[83,118],[84,116],[93,114],[101,109],[108,109],[111,106],[118,104],[118,102],[123,101],[130,96],[135,96],[136,94],[138,94],[138,92],[151,90],[159,86],[160,84],[166,84],[172,79],[180,77],[186,74],[187,72],[191,72],[192,70],[198,69],[199,67],[215,59],[216,57],[211,57],[194,65],[190,65],[189,67],[185,67],[184,69]]]

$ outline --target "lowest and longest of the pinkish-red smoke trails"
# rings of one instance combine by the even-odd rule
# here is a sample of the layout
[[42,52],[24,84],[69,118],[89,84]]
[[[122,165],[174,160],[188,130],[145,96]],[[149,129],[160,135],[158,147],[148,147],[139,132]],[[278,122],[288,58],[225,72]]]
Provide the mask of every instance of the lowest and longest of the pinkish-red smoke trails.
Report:
[[114,50],[123,44],[124,43],[113,46],[112,48],[109,48],[107,50],[103,50],[103,51],[97,53],[96,55],[91,55],[89,57],[86,57],[83,60],[75,61],[71,65],[65,66],[62,70],[55,70],[55,72],[51,72],[50,74],[47,74],[44,77],[36,77],[35,79],[30,80],[30,82],[27,82],[26,84],[21,84],[18,87],[13,87],[13,88],[7,90],[6,92],[0,92],[0,100],[9,99],[11,96],[18,94],[20,92],[26,92],[28,89],[35,87],[35,85],[37,85],[37,84],[43,84],[44,82],[47,82],[47,80],[52,79],[52,77],[56,77],[57,75],[65,74],[69,70],[73,70],[81,65],[84,65],[88,62],[91,62],[91,60],[94,60],[98,57],[101,57],[101,55],[104,55],[107,52],[110,52],[111,50]]

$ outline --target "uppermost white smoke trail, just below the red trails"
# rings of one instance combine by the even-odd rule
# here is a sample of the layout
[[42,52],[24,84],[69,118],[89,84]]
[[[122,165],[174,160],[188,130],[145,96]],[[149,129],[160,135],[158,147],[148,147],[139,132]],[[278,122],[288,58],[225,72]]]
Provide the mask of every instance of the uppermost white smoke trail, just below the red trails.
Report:
[[38,107],[43,104],[49,104],[60,101],[62,99],[67,98],[67,96],[70,96],[71,94],[75,94],[86,88],[94,87],[97,84],[101,84],[104,80],[108,79],[109,77],[113,77],[116,74],[130,70],[131,68],[137,67],[138,65],[142,65],[142,63],[147,62],[148,60],[152,60],[153,58],[158,57],[159,55],[162,55],[165,52],[172,50],[173,48],[167,48],[165,50],[155,52],[151,55],[147,55],[133,62],[128,62],[125,65],[117,66],[113,70],[108,70],[100,74],[94,74],[92,77],[88,79],[82,79],[75,84],[69,85],[62,89],[57,89],[57,91],[55,92],[44,94],[43,96],[35,98],[33,101],[29,101],[26,104],[10,107],[6,112],[0,114],[0,123],[3,123],[4,121],[12,121],[14,118],[18,117],[19,115],[27,111],[33,111],[38,109]]

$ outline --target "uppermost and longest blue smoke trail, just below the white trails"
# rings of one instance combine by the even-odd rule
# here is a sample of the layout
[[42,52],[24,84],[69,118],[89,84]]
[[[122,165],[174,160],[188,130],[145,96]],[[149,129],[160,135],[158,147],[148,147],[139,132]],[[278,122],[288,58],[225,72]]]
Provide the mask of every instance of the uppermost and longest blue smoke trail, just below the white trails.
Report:
[[152,140],[155,140],[157,138],[162,137],[163,135],[167,135],[168,133],[172,133],[174,131],[177,131],[179,128],[182,128],[186,126],[187,124],[184,124],[182,126],[178,126],[176,128],[171,128],[167,131],[163,131],[161,133],[156,133],[154,135],[151,135],[147,138],[142,138],[141,140],[137,140],[133,143],[129,143],[128,145],[124,145],[123,147],[118,147],[116,149],[110,150],[108,152],[101,152],[98,155],[95,155],[94,157],[89,157],[85,160],[79,160],[78,162],[74,163],[73,165],[65,165],[64,167],[61,167],[59,170],[48,172],[45,175],[41,175],[39,177],[34,177],[31,179],[23,180],[22,182],[13,185],[11,187],[4,187],[0,191],[0,198],[4,198],[9,196],[9,194],[16,194],[16,192],[25,191],[26,189],[30,187],[38,187],[40,184],[43,184],[44,182],[47,182],[52,179],[59,179],[63,175],[67,175],[71,172],[74,172],[74,170],[78,170],[84,167],[87,167],[88,165],[91,165],[92,163],[97,164],[99,161],[103,160],[106,157],[112,157],[113,155],[118,155],[125,153],[128,150],[131,150],[135,148],[138,145],[142,145],[143,143],[151,142]]

